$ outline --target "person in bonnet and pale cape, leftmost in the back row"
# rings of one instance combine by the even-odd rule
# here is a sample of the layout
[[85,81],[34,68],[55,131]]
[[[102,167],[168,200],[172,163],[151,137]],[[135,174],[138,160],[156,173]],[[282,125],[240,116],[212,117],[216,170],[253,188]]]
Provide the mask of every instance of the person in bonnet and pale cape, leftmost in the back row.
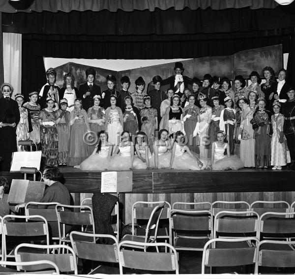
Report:
[[49,68],[46,71],[47,83],[43,85],[39,92],[38,103],[41,109],[47,107],[47,99],[54,101],[55,107],[53,110],[59,109],[59,86],[55,83],[57,79],[57,71],[54,68]]

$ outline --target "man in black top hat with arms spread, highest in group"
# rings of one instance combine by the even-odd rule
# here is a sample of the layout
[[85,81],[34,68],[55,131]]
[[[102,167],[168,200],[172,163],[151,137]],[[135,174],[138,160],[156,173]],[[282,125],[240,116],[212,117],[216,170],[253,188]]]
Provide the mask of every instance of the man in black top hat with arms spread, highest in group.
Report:
[[182,75],[183,71],[182,63],[176,62],[174,67],[176,75],[162,80],[162,85],[169,84],[170,88],[174,89],[174,93],[178,94],[180,97],[182,96],[183,90],[187,88],[187,85],[192,81],[191,78]]

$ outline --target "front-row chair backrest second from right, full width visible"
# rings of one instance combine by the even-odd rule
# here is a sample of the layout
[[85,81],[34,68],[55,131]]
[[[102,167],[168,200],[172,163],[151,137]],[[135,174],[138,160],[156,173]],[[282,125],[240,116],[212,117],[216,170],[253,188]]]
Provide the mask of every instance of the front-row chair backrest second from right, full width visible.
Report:
[[205,274],[205,267],[231,267],[254,264],[256,247],[212,248],[215,247],[216,242],[233,243],[245,241],[259,242],[256,237],[210,239],[203,249],[202,274]]

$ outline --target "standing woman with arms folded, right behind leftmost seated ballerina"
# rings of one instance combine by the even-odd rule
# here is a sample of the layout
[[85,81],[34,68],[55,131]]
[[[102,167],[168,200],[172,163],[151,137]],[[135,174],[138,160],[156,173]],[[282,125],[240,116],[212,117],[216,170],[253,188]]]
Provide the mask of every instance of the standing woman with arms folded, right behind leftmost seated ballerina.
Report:
[[[95,95],[93,96],[94,105],[88,109],[87,116],[88,122],[91,132],[95,133],[93,137],[95,140],[97,139],[98,132],[104,129],[106,123],[106,111],[104,108],[100,107],[101,96]],[[91,155],[95,148],[96,142],[89,143],[87,145],[88,154]]]

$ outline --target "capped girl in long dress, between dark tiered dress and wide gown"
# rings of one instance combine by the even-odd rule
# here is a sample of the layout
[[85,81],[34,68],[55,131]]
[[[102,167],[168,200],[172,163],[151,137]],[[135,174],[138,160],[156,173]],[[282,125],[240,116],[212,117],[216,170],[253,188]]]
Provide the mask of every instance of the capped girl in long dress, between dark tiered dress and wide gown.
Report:
[[59,110],[57,110],[56,126],[58,130],[59,166],[66,166],[69,158],[69,137],[70,137],[70,112],[67,111],[67,99],[60,99]]

